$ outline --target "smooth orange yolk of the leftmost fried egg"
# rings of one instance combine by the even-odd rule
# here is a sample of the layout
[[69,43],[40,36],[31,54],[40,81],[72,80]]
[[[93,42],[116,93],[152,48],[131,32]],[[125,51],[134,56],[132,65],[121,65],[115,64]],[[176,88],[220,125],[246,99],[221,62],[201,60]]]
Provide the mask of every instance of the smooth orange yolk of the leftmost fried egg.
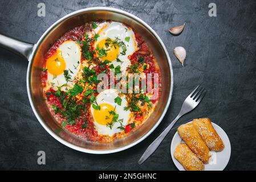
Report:
[[66,63],[61,55],[61,51],[57,50],[55,55],[49,57],[46,61],[46,68],[52,75],[60,75],[66,69]]

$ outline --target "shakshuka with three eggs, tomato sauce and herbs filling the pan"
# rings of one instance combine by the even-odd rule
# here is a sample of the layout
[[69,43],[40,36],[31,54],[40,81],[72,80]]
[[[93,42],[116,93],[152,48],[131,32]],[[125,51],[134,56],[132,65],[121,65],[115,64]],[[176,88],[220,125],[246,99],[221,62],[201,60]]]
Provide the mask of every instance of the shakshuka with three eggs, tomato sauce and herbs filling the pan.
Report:
[[[126,137],[147,125],[158,104],[161,76],[155,56],[142,36],[123,23],[97,21],[75,27],[56,40],[44,59],[41,80],[47,107],[61,127],[78,137],[100,143]],[[128,92],[128,80],[135,73],[139,82],[147,74],[159,75],[157,84],[154,78],[150,82],[157,97],[147,89],[143,92],[141,85]],[[99,75],[107,77],[103,89]]]

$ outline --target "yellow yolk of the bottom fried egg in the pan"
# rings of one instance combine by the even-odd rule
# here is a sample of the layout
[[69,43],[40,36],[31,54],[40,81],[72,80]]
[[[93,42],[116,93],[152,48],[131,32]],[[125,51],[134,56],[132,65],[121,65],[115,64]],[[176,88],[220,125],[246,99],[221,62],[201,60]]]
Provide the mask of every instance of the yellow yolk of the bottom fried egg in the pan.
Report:
[[100,125],[107,125],[112,121],[113,115],[109,114],[109,111],[115,110],[115,108],[107,103],[100,104],[100,110],[94,110],[94,119]]

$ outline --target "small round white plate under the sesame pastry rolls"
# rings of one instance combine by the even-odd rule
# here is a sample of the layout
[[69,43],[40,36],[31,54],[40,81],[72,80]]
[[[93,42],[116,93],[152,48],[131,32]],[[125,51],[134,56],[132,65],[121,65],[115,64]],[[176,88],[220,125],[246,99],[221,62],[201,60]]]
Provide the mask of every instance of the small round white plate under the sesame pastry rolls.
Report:
[[[205,171],[222,171],[227,166],[227,163],[229,163],[229,158],[231,155],[230,141],[229,141],[229,137],[227,137],[227,134],[225,133],[224,130],[222,130],[222,128],[220,126],[216,125],[213,122],[212,122],[212,124],[213,124],[214,129],[217,131],[218,135],[220,135],[222,141],[224,142],[225,148],[224,148],[224,150],[222,150],[220,152],[210,151],[212,156],[209,160],[209,164],[205,164]],[[185,171],[185,169],[182,167],[182,165],[173,156],[176,147],[181,142],[183,142],[183,141],[180,138],[180,135],[178,135],[178,132],[176,132],[172,139],[172,144],[170,144],[170,154],[172,155],[172,160],[173,160],[175,166],[180,171]]]

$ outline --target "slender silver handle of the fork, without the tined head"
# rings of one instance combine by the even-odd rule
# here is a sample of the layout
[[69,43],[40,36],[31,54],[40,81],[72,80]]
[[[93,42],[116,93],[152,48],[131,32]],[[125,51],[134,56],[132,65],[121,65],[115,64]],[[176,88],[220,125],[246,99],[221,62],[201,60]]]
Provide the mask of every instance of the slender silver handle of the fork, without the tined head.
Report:
[[182,116],[181,114],[178,114],[177,117],[173,120],[173,122],[171,122],[170,125],[168,127],[166,127],[166,129],[164,131],[162,131],[162,133],[159,135],[159,137],[157,137],[154,140],[154,142],[152,142],[151,145],[148,146],[147,150],[141,156],[141,158],[138,162],[139,164],[143,163],[145,160],[147,160],[149,158],[149,156],[151,156],[153,154],[153,152],[155,152],[155,150],[157,149],[157,147],[159,147],[162,140],[164,140],[166,135],[169,133],[170,129],[172,129],[173,125],[178,121],[178,119],[181,116]]

